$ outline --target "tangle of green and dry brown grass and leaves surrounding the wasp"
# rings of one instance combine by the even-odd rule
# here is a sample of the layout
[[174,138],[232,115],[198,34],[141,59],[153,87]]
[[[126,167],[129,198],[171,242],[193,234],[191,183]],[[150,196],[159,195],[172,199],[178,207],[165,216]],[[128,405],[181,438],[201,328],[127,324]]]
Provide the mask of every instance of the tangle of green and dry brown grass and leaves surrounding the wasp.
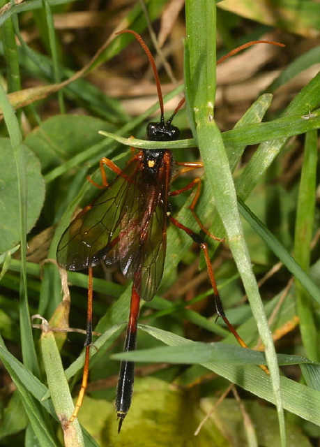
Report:
[[[318,446],[320,3],[224,0],[216,11],[212,0],[1,6],[1,446]],[[101,157],[121,167],[130,158],[128,141],[98,131],[144,138],[146,122],[159,115],[146,55],[130,37],[114,35],[125,28],[141,33],[156,54],[167,116],[185,87],[174,155],[192,161],[201,153],[197,214],[227,238],[210,244],[224,309],[250,347],[263,349],[263,340],[271,379],[256,366],[261,357],[243,353],[215,321],[199,249],[169,228],[162,286],[140,315],[146,325],[138,348],[150,351],[136,353],[135,394],[121,434],[112,402],[120,357],[113,355],[123,345],[130,284],[116,265],[94,272],[102,335],[91,350],[82,425],[62,432],[59,418],[72,412],[69,387],[77,395],[84,335],[54,337],[50,328],[85,328],[87,277],[68,272],[67,281],[56,244],[76,208],[97,194],[86,175],[100,181]],[[218,66],[214,94],[215,60],[256,39],[286,47],[255,45],[231,57]],[[174,189],[186,183],[178,179]],[[173,212],[198,231],[188,196],[172,199]],[[36,314],[49,321],[42,332],[31,327]]]

